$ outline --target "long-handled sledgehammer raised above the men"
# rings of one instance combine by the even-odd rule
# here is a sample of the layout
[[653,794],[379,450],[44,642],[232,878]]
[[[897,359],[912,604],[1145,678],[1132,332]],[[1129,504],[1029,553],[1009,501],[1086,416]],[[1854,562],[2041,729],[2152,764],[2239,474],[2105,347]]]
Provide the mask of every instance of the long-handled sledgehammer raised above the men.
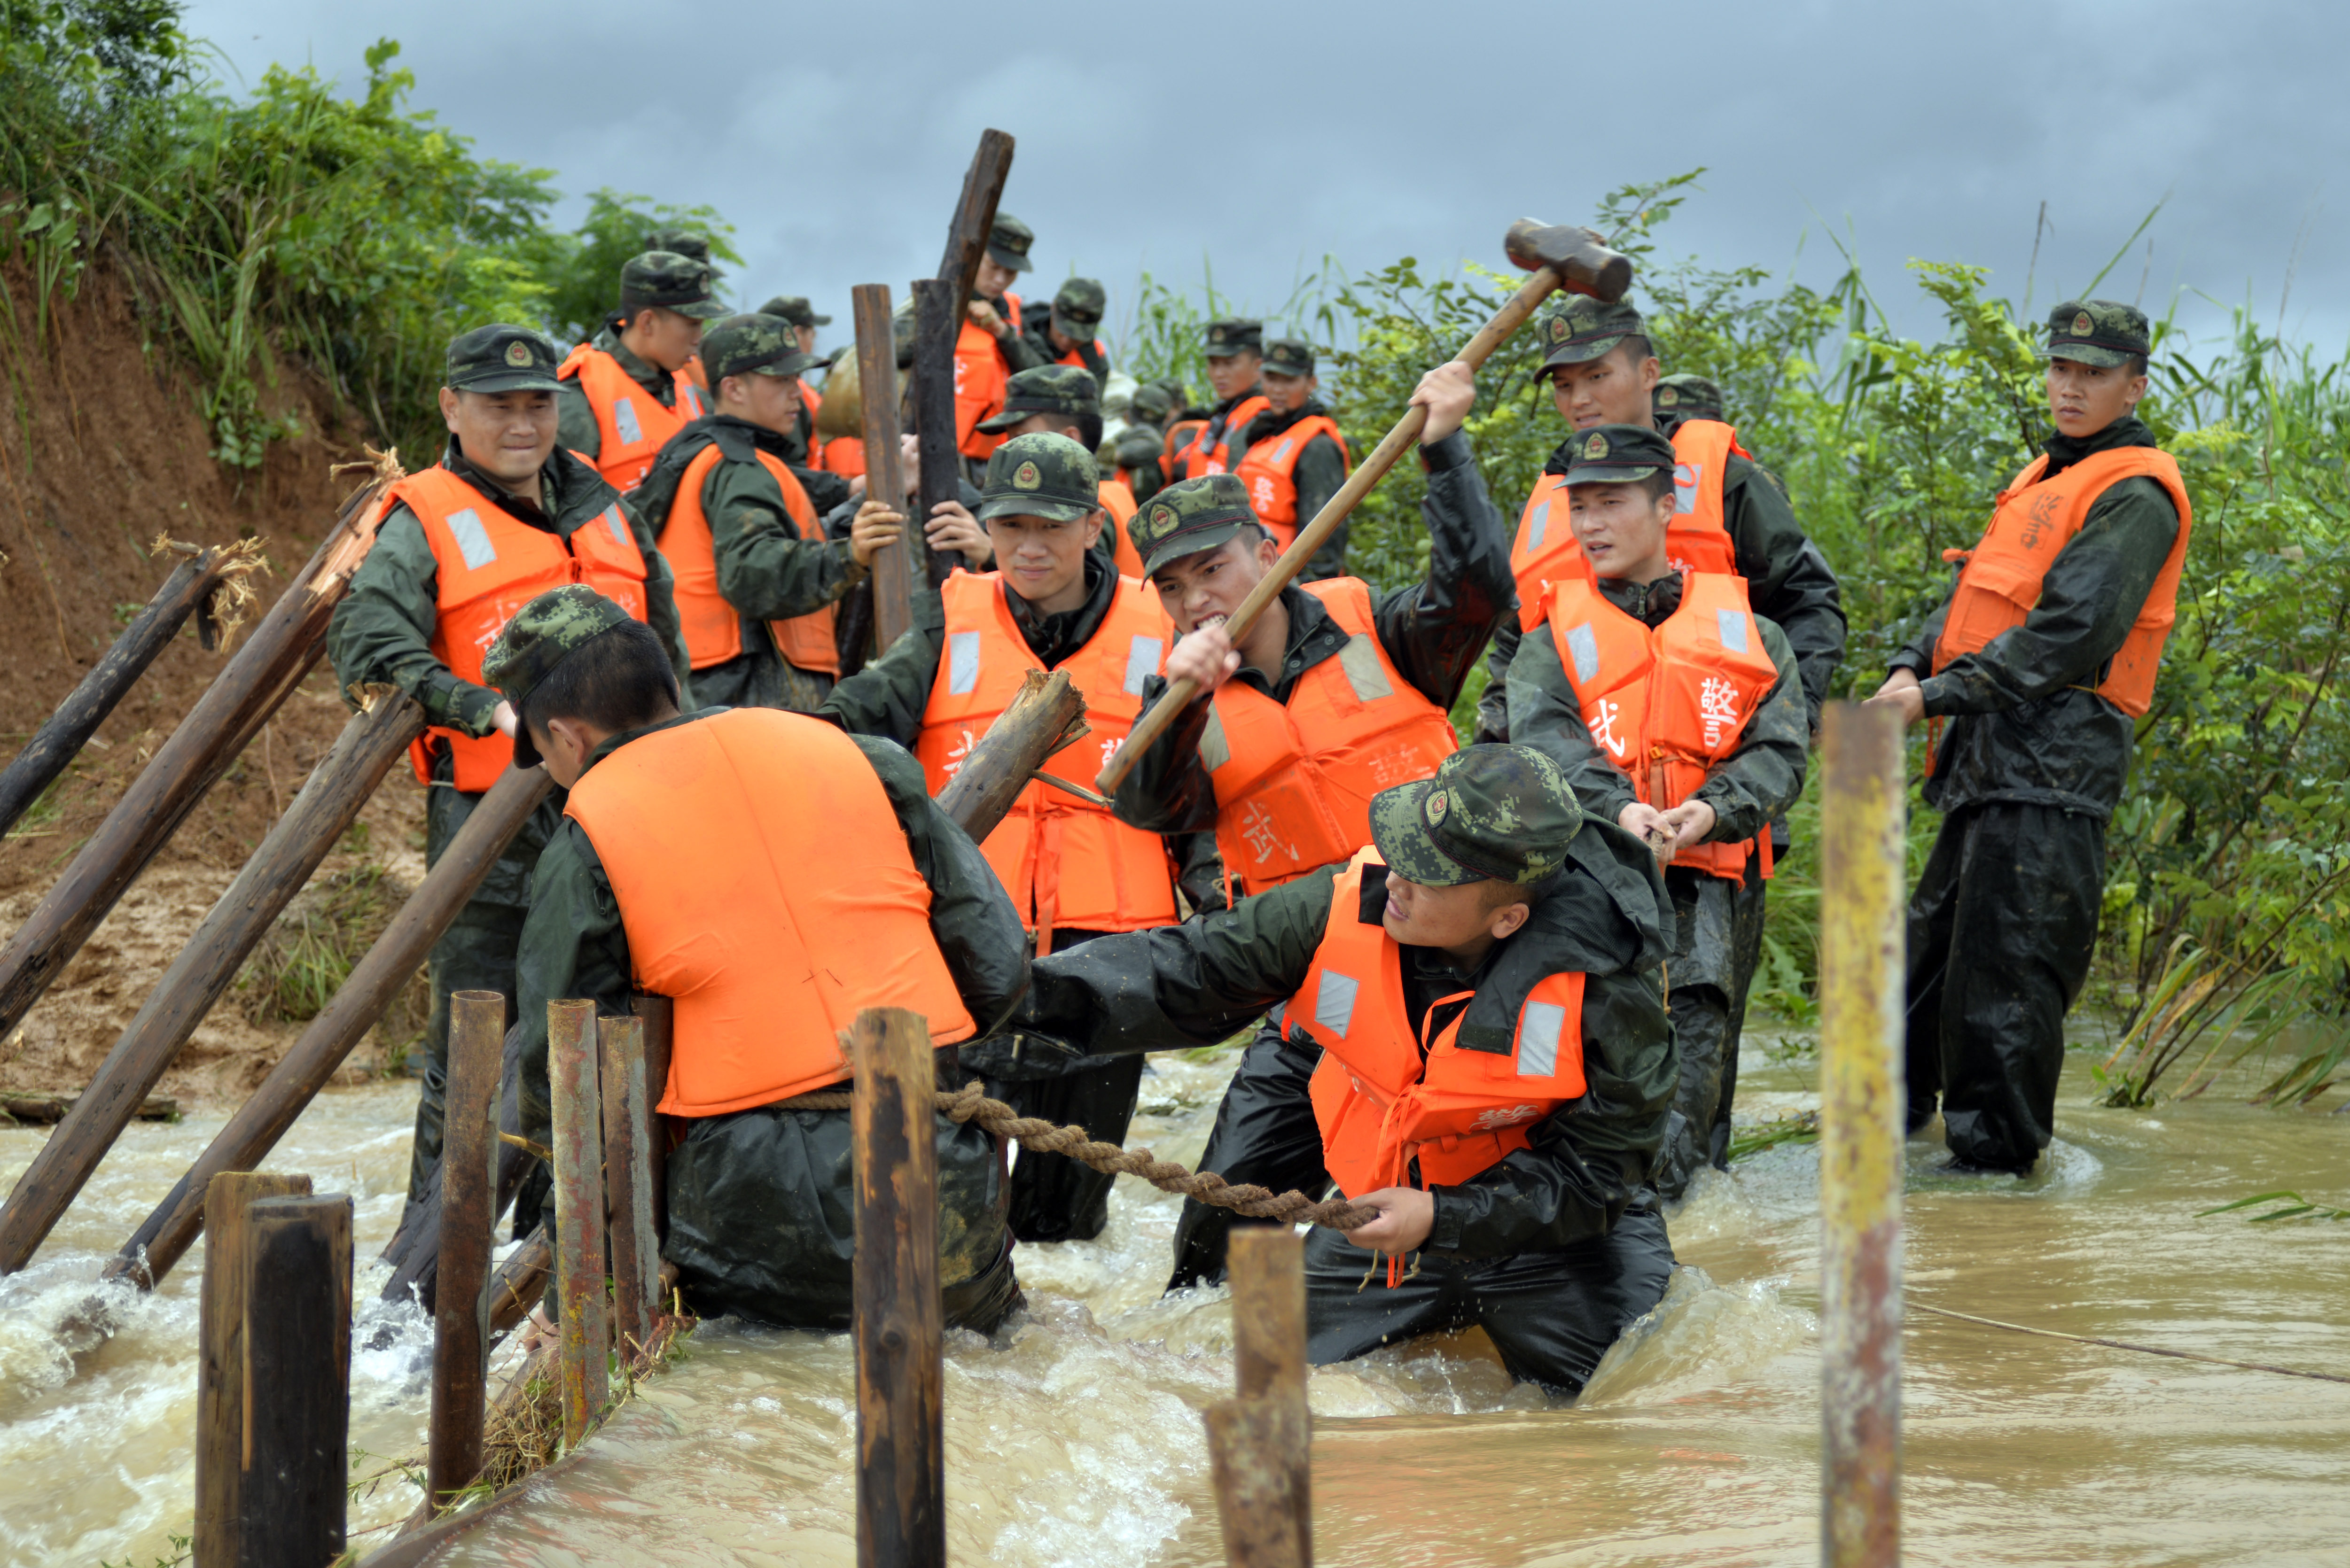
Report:
[[[1535,219],[1518,219],[1509,226],[1509,235],[1502,237],[1502,249],[1509,259],[1532,273],[1525,287],[1518,289],[1506,306],[1495,310],[1492,320],[1469,346],[1455,355],[1469,369],[1478,369],[1492,355],[1495,348],[1509,341],[1525,317],[1535,313],[1542,301],[1553,292],[1565,289],[1570,294],[1589,294],[1593,299],[1605,299],[1610,303],[1624,299],[1624,289],[1631,287],[1631,256],[1622,256],[1607,249],[1596,233],[1589,228],[1577,228],[1572,223],[1537,223]],[[1405,451],[1419,440],[1419,428],[1429,423],[1429,411],[1422,407],[1410,407],[1396,428],[1386,433],[1363,465],[1356,468],[1335,496],[1314,512],[1314,522],[1297,529],[1297,538],[1290,548],[1274,562],[1274,569],[1241,599],[1241,609],[1231,614],[1224,623],[1224,632],[1241,642],[1248,637],[1248,628],[1257,623],[1264,607],[1288,588],[1314,552],[1323,548],[1323,541],[1337,531],[1337,524],[1347,520],[1370,487],[1386,477],[1386,470],[1396,465]],[[1191,698],[1198,696],[1194,682],[1180,679],[1166,689],[1166,693],[1152,705],[1147,715],[1128,731],[1126,743],[1109,757],[1102,773],[1093,780],[1093,788],[1102,795],[1116,795],[1119,783],[1133,771],[1135,762],[1144,750],[1175,722]]]

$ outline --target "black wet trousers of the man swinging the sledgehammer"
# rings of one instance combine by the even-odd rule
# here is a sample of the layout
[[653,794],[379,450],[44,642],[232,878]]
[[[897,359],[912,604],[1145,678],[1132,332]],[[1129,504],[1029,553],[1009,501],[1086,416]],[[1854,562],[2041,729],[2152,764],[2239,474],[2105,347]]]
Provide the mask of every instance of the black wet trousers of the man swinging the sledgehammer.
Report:
[[[1241,1053],[1241,1070],[1224,1086],[1215,1107],[1215,1131],[1198,1157],[1201,1171],[1215,1171],[1227,1182],[1255,1182],[1274,1192],[1321,1197],[1330,1173],[1321,1161],[1321,1128],[1314,1126],[1314,1100],[1307,1084],[1321,1063],[1321,1046],[1281,1037],[1278,1013],[1257,1030]],[[1269,1225],[1243,1220],[1229,1208],[1198,1199],[1182,1201],[1175,1222],[1175,1274],[1168,1291],[1224,1284],[1224,1248],[1234,1225]]]

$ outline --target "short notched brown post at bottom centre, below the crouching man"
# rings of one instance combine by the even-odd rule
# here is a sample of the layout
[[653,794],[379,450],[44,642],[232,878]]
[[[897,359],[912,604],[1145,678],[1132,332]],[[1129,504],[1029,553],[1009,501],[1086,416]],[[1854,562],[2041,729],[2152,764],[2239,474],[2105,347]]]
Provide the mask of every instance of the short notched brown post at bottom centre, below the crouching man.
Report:
[[1234,1229],[1229,1274],[1241,1396],[1206,1410],[1224,1561],[1231,1568],[1311,1568],[1304,1241],[1285,1225]]

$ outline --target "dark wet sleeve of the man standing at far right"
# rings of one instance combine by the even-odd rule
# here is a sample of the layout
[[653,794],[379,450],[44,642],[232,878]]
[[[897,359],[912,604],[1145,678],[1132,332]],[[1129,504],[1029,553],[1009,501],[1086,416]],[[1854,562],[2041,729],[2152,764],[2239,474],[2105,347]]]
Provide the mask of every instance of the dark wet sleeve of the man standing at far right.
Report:
[[1922,682],[1927,717],[2000,712],[2063,686],[2094,686],[2146,609],[2174,538],[2178,508],[2160,482],[2108,487],[2049,562],[2023,625]]

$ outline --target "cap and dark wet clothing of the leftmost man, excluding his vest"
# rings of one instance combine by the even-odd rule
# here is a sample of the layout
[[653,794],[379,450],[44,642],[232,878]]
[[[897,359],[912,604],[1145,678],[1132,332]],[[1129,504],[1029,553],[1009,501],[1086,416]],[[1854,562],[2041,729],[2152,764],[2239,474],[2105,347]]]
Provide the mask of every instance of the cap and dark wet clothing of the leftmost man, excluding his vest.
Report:
[[[555,430],[545,433],[540,468],[526,480],[505,480],[484,468],[503,454],[468,456],[458,423],[482,397],[543,397],[552,411],[555,346],[524,327],[479,327],[449,343],[449,381],[442,407],[449,411],[449,449],[439,468],[479,494],[479,505],[496,505],[503,520],[540,529],[564,541],[576,555],[573,534],[606,527],[611,515],[625,520],[637,552],[644,557],[646,621],[670,649],[679,677],[686,649],[670,597],[670,567],[653,548],[644,522],[620,501],[620,494],[595,468],[562,451]],[[479,527],[479,524],[477,524]],[[479,548],[489,548],[484,534]],[[343,691],[388,682],[414,696],[435,729],[454,736],[494,736],[510,731],[512,715],[486,684],[454,672],[435,651],[439,630],[439,557],[418,515],[400,503],[385,512],[376,543],[350,578],[350,592],[334,609],[327,628],[327,658]],[[430,788],[425,792],[425,865],[437,865],[449,839],[472,816],[479,790],[458,790],[451,743],[428,736],[418,743],[418,762]],[[442,1147],[442,1103],[449,1081],[449,994],[458,990],[494,990],[515,997],[515,943],[529,905],[531,865],[548,842],[562,806],[540,804],[515,842],[489,870],[482,886],[456,922],[432,945],[432,1013],[423,1039],[423,1095],[416,1107],[416,1145],[409,1161],[409,1199],[425,1192]]]

